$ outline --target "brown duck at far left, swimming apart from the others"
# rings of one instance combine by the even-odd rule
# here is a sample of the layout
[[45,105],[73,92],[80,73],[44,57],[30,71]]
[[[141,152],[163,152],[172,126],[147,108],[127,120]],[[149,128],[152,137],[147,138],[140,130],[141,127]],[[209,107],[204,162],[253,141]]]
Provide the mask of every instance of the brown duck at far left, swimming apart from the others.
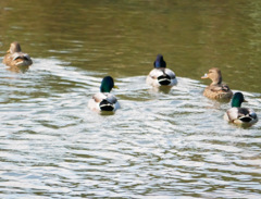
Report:
[[9,66],[29,66],[33,61],[29,54],[22,52],[20,43],[14,41],[10,45],[10,49],[3,58],[3,63]]

